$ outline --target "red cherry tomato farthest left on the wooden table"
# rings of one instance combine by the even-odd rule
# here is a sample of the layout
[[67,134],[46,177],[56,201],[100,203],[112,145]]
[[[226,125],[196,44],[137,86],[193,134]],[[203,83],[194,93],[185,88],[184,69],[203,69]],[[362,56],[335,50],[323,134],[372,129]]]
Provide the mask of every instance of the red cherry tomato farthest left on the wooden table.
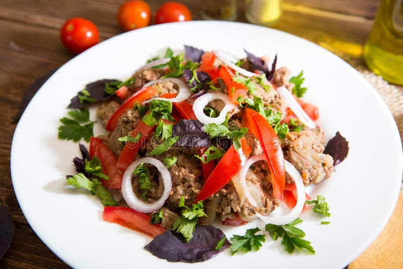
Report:
[[79,54],[99,42],[98,28],[89,20],[75,17],[67,20],[60,30],[63,45]]

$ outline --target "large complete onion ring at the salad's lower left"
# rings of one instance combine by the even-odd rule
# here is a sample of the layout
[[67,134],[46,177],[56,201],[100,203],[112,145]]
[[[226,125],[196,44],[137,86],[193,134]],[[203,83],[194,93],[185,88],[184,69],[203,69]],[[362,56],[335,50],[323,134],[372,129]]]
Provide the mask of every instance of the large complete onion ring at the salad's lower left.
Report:
[[[131,183],[132,173],[141,163],[148,163],[154,165],[161,173],[162,184],[164,185],[164,192],[162,193],[161,197],[151,204],[144,203],[143,200],[139,199],[136,196],[135,192],[133,191],[133,186]],[[132,164],[129,165],[129,167],[127,167],[126,171],[123,174],[122,188],[121,188],[123,198],[130,208],[141,213],[151,213],[162,208],[162,206],[165,203],[165,200],[168,198],[169,193],[171,192],[171,189],[172,189],[172,181],[168,169],[162,162],[154,158],[145,157],[133,162]]]

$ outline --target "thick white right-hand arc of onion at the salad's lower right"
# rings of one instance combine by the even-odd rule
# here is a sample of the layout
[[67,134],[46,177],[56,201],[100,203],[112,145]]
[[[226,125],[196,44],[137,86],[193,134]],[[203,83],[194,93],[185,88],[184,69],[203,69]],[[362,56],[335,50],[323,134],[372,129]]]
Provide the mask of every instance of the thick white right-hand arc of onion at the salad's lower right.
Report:
[[291,176],[292,180],[297,187],[297,204],[295,207],[290,211],[290,213],[281,216],[281,217],[271,217],[271,216],[263,216],[256,212],[256,216],[263,220],[266,223],[271,223],[275,225],[284,225],[292,222],[296,218],[298,218],[299,214],[302,212],[305,204],[305,186],[302,182],[302,177],[298,173],[297,169],[289,163],[287,160],[284,160],[284,164],[286,167],[286,172]]

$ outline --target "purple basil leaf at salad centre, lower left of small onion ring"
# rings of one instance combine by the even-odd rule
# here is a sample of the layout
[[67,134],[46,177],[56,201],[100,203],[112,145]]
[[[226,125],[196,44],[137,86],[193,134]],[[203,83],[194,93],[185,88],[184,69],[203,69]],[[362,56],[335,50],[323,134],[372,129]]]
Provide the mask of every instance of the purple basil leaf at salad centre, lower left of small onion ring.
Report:
[[172,126],[172,137],[179,136],[177,144],[188,147],[210,146],[210,138],[204,124],[195,119],[180,119]]

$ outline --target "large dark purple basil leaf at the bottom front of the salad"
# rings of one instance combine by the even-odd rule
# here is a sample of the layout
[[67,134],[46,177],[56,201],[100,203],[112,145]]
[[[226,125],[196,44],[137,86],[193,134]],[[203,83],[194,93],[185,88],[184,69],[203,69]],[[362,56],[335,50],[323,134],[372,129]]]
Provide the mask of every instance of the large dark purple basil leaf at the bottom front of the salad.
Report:
[[198,262],[211,259],[222,252],[231,244],[225,240],[223,247],[216,250],[218,241],[225,234],[211,225],[197,225],[193,232],[193,238],[184,243],[181,234],[167,230],[154,238],[144,248],[153,255],[168,261]]

